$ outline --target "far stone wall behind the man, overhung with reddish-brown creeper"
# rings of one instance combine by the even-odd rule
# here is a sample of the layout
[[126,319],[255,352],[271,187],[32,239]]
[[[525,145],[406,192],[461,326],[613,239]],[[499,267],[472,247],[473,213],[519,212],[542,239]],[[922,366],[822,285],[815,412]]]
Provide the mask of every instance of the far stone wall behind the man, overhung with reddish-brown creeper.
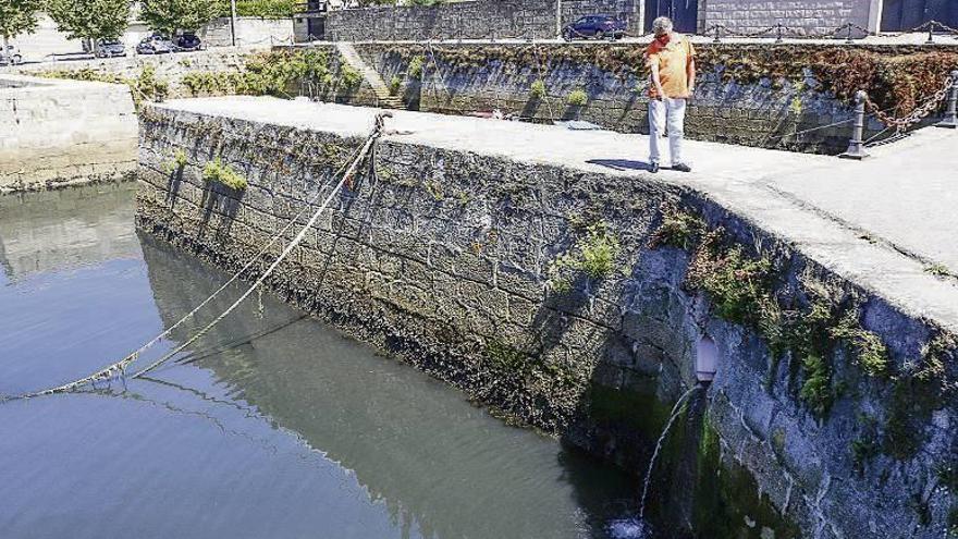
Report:
[[[698,47],[700,54],[750,58],[759,64],[775,54],[769,46]],[[404,82],[405,100],[414,109],[446,114],[500,110],[537,122],[577,119],[621,133],[649,133],[641,45],[437,45],[427,50],[363,44],[356,49],[384,81]],[[416,58],[423,63],[421,79],[408,75]],[[627,58],[632,60],[621,60]],[[689,138],[832,155],[848,148],[853,109],[819,91],[813,77],[737,82],[725,76],[726,69],[721,63],[700,68],[686,115]],[[541,95],[532,90],[537,81],[543,84]],[[575,91],[585,91],[585,103],[569,103]],[[870,118],[867,136],[883,128]]]

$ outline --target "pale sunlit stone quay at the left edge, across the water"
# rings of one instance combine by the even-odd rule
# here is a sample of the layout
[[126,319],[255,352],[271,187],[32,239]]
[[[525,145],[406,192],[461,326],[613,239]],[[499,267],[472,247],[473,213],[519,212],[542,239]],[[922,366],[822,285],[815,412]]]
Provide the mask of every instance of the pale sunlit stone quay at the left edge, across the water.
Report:
[[0,193],[130,174],[136,125],[126,86],[0,75]]

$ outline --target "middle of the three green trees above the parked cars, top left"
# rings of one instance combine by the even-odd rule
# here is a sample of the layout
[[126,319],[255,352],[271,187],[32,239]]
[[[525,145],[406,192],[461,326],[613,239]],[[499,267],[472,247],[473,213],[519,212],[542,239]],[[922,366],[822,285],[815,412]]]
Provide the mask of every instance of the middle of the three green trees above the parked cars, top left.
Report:
[[48,0],[47,13],[71,39],[119,39],[130,24],[130,0]]

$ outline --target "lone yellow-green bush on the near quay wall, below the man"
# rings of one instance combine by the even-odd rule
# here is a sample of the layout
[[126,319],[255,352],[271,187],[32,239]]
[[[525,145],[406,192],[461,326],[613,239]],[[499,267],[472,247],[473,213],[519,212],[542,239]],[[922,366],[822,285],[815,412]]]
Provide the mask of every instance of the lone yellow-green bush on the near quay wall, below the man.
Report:
[[584,237],[549,266],[546,285],[550,290],[564,294],[572,290],[577,274],[602,279],[615,271],[615,261],[622,247],[609,224],[604,221],[594,222],[586,226],[585,232]]

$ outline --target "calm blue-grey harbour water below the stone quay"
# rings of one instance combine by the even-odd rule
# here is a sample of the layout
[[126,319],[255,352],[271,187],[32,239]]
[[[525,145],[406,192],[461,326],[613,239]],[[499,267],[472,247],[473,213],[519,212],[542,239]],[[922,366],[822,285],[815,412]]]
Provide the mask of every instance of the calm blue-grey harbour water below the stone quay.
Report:
[[[138,236],[133,189],[0,197],[0,394],[116,360],[226,279]],[[0,403],[4,539],[605,537],[637,487],[267,295],[149,377]]]

